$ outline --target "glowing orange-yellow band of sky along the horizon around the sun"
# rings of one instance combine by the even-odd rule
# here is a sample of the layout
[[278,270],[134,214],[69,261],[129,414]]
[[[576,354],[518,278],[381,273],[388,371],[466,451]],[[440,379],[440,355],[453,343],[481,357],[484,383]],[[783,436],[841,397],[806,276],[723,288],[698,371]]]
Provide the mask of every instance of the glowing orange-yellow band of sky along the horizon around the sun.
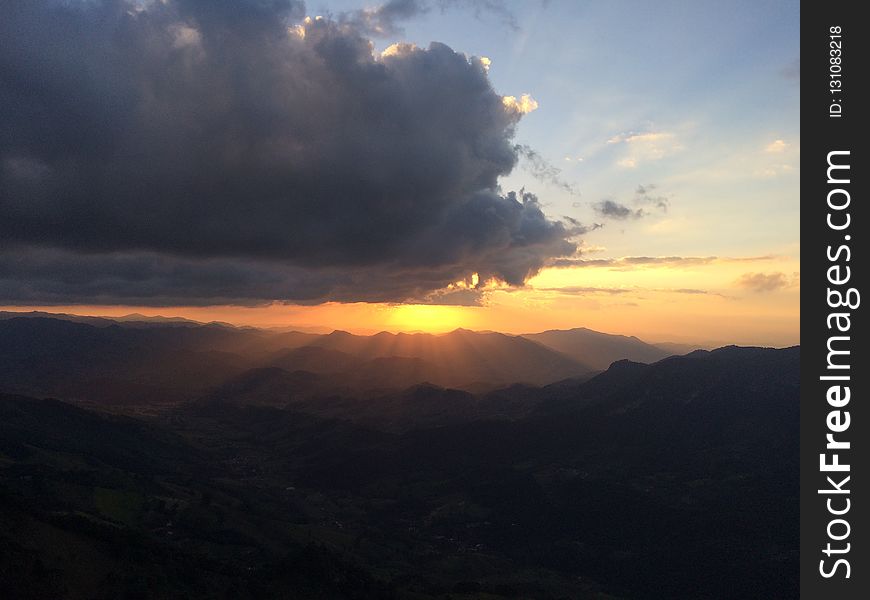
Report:
[[549,268],[521,289],[494,289],[483,306],[273,303],[261,307],[3,307],[82,315],[181,316],[256,327],[444,332],[457,327],[531,333],[589,327],[651,342],[787,346],[800,342],[800,276],[794,258],[615,260]]

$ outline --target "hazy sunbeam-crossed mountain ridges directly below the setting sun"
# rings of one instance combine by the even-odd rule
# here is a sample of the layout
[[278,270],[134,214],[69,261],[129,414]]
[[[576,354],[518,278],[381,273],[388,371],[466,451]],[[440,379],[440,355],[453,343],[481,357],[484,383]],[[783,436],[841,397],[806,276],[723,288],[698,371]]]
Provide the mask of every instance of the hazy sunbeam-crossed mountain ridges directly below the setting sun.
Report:
[[[317,335],[162,319],[132,323],[41,314],[0,319],[0,390],[162,410],[268,367],[329,375],[314,386],[319,392],[384,392],[420,383],[493,389],[590,372],[539,344],[498,333]],[[295,383],[290,389],[300,391]]]

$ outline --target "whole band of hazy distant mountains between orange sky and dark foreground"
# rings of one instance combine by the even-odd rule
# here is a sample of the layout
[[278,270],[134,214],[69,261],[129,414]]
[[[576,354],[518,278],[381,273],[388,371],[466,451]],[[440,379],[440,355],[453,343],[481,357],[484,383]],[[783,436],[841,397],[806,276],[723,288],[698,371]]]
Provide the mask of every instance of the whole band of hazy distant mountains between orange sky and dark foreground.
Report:
[[[215,397],[279,407],[327,396],[371,399],[427,384],[486,398],[475,414],[501,411],[514,418],[536,406],[541,394],[549,402],[563,398],[612,362],[655,362],[667,354],[636,338],[588,329],[529,336],[464,329],[319,335],[179,324],[163,317],[140,327],[131,325],[135,320],[14,314],[0,319],[0,391],[131,414]],[[523,386],[545,387],[532,398]],[[490,394],[499,388],[511,391]],[[493,404],[497,397],[513,408]]]

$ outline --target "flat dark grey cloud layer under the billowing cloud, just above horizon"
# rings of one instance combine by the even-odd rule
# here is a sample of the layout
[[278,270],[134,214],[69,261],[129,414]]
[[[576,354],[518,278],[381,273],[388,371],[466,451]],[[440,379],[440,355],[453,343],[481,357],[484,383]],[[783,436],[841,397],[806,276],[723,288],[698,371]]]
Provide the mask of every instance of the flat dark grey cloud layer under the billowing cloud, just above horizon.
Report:
[[479,304],[479,290],[457,294],[440,289],[456,277],[450,267],[311,270],[263,260],[179,258],[147,252],[0,252],[0,297],[13,305],[256,306],[273,299],[296,304],[408,299]]

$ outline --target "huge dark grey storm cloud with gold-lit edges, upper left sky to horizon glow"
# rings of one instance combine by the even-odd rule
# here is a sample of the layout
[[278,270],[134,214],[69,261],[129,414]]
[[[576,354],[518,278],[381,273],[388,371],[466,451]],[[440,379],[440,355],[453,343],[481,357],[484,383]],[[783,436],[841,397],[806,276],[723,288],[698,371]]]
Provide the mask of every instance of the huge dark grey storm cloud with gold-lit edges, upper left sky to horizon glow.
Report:
[[499,191],[522,114],[481,61],[302,14],[0,5],[0,300],[402,301],[576,250]]

